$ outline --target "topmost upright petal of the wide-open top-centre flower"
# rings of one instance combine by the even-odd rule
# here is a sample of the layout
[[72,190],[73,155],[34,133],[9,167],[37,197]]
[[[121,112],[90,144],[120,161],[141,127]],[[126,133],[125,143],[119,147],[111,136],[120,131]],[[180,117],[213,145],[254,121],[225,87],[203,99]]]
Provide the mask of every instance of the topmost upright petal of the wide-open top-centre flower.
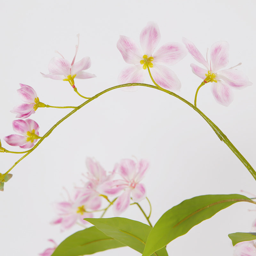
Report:
[[154,52],[161,38],[160,30],[155,22],[148,22],[147,26],[140,32],[140,44],[143,54],[149,56]]

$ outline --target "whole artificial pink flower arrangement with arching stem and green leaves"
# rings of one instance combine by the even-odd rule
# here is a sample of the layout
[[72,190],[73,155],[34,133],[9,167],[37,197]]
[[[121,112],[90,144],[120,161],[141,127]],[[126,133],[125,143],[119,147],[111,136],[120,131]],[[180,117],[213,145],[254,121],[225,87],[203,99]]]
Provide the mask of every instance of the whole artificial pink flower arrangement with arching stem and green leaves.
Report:
[[[31,86],[20,84],[18,93],[24,103],[14,107],[11,112],[16,114],[17,118],[21,118],[12,122],[13,130],[21,135],[12,134],[4,137],[4,140],[9,145],[19,146],[25,151],[9,151],[0,143],[0,152],[22,154],[22,157],[9,170],[0,174],[0,190],[4,190],[4,184],[12,177],[11,170],[34,151],[46,137],[50,136],[57,125],[108,91],[117,88],[134,91],[138,86],[162,91],[193,108],[212,127],[218,138],[231,149],[256,180],[256,172],[252,166],[218,126],[196,105],[198,92],[205,84],[211,84],[214,99],[224,106],[228,106],[234,99],[232,89],[242,89],[252,85],[247,76],[236,69],[241,63],[224,69],[228,65],[228,43],[220,41],[212,44],[209,56],[207,51],[205,60],[196,46],[186,38],[183,38],[183,44],[166,43],[155,50],[159,40],[160,31],[154,22],[149,22],[142,29],[140,33],[141,48],[131,38],[120,36],[117,48],[124,61],[132,66],[121,71],[118,78],[120,85],[108,88],[93,97],[85,97],[78,92],[75,79],[93,78],[95,75],[84,71],[91,66],[89,57],[75,62],[79,47],[78,35],[78,44],[72,62],[70,63],[60,54],[60,57],[54,57],[50,61],[49,74],[42,73],[42,75],[46,78],[67,81],[74,92],[85,99],[79,106],[47,105],[39,100],[36,91]],[[187,52],[204,66],[202,68],[191,64],[192,72],[203,80],[195,92],[194,104],[173,92],[180,89],[181,83],[176,74],[166,67],[182,60]],[[150,76],[153,85],[143,84],[146,75]],[[72,111],[54,124],[43,136],[39,136],[39,125],[30,119],[30,116],[35,114],[38,108],[70,108]],[[67,200],[55,205],[58,216],[52,220],[52,224],[60,225],[61,230],[68,229],[76,223],[85,229],[69,236],[59,245],[50,239],[49,241],[54,246],[39,255],[79,256],[122,246],[129,246],[142,253],[143,256],[168,255],[167,244],[178,236],[186,234],[203,220],[211,218],[220,210],[237,202],[256,204],[253,201],[254,198],[238,194],[196,196],[172,207],[153,226],[150,222],[151,204],[146,196],[146,185],[142,182],[149,168],[148,160],[122,159],[114,165],[111,172],[107,173],[100,163],[87,157],[86,167],[88,172],[84,175],[83,186],[75,187],[71,196],[67,191]],[[149,213],[142,209],[140,205],[142,200],[148,201]],[[103,218],[111,208],[113,215],[118,216],[131,204],[139,207],[148,224],[120,217]],[[97,214],[100,214],[99,218],[93,218]],[[93,226],[88,228],[86,226],[90,225],[89,223]],[[256,255],[256,245],[253,241],[256,240],[256,233],[253,232],[255,226],[253,223],[250,233],[237,232],[228,235],[235,245],[235,255]]]

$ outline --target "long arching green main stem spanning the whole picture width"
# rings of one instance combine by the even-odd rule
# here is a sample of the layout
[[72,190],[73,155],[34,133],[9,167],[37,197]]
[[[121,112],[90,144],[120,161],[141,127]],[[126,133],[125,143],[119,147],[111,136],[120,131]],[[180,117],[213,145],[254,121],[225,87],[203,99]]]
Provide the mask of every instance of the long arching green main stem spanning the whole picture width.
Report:
[[156,89],[156,90],[159,90],[159,91],[163,91],[163,92],[166,92],[170,95],[172,95],[173,97],[183,101],[184,103],[186,103],[189,107],[193,108],[200,116],[202,116],[204,118],[204,120],[212,127],[212,130],[217,134],[217,136],[219,137],[219,139],[221,141],[223,141],[230,149],[231,151],[238,157],[238,159],[244,164],[244,166],[247,168],[247,170],[252,174],[252,177],[256,180],[256,172],[255,170],[252,168],[252,166],[248,163],[248,161],[244,158],[244,156],[236,149],[236,147],[231,143],[230,140],[228,140],[227,136],[220,130],[220,128],[214,124],[212,122],[211,119],[209,119],[207,116],[204,115],[204,113],[196,108],[192,103],[190,103],[188,100],[185,100],[184,98],[180,97],[179,95],[177,95],[176,93],[174,92],[170,92],[168,90],[165,90],[161,87],[156,87],[154,85],[151,85],[151,84],[140,84],[140,83],[133,83],[133,84],[120,84],[120,85],[116,85],[116,86],[113,86],[113,87],[110,87],[98,94],[96,94],[95,96],[93,96],[92,98],[86,100],[85,102],[83,102],[81,105],[77,106],[77,108],[73,109],[71,112],[69,112],[66,116],[64,116],[63,118],[61,118],[56,124],[54,124],[52,126],[52,128],[46,132],[44,134],[44,136],[41,138],[41,140],[39,140],[36,145],[31,148],[28,153],[26,153],[26,155],[22,156],[17,162],[15,162],[12,167],[7,171],[5,172],[4,174],[2,174],[0,176],[0,182],[1,180],[4,179],[5,175],[7,173],[9,173],[13,167],[15,167],[23,158],[25,158],[26,156],[28,156],[32,151],[34,151],[39,145],[40,143],[42,143],[42,141],[47,137],[49,136],[52,131],[60,124],[62,123],[65,119],[67,119],[69,116],[73,115],[77,110],[79,110],[80,108],[83,108],[86,104],[88,104],[89,102],[91,102],[92,100],[95,100],[97,99],[98,97],[100,97],[100,95],[102,94],[105,94],[106,92],[109,92],[109,91],[112,91],[112,90],[115,90],[117,88],[123,88],[123,87],[126,87],[126,86],[145,86],[145,87],[149,87],[149,88],[153,88],[153,89]]

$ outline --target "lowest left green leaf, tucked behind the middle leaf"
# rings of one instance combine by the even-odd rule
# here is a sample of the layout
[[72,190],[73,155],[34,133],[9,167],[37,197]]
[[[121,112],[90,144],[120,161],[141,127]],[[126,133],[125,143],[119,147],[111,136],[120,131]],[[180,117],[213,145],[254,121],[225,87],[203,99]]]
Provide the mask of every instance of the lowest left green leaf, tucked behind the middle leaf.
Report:
[[80,256],[122,246],[125,245],[113,237],[106,236],[99,229],[91,227],[66,238],[56,248],[52,256]]

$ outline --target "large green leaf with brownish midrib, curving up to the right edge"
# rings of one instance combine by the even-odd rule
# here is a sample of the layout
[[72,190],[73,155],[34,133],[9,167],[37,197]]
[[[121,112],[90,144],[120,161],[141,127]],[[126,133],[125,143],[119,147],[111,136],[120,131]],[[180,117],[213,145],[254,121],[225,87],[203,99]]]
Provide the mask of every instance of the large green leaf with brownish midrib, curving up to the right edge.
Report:
[[215,213],[236,202],[254,203],[250,198],[238,194],[204,195],[185,200],[165,212],[151,230],[143,256],[149,256],[169,244],[173,239],[182,236],[189,229]]

